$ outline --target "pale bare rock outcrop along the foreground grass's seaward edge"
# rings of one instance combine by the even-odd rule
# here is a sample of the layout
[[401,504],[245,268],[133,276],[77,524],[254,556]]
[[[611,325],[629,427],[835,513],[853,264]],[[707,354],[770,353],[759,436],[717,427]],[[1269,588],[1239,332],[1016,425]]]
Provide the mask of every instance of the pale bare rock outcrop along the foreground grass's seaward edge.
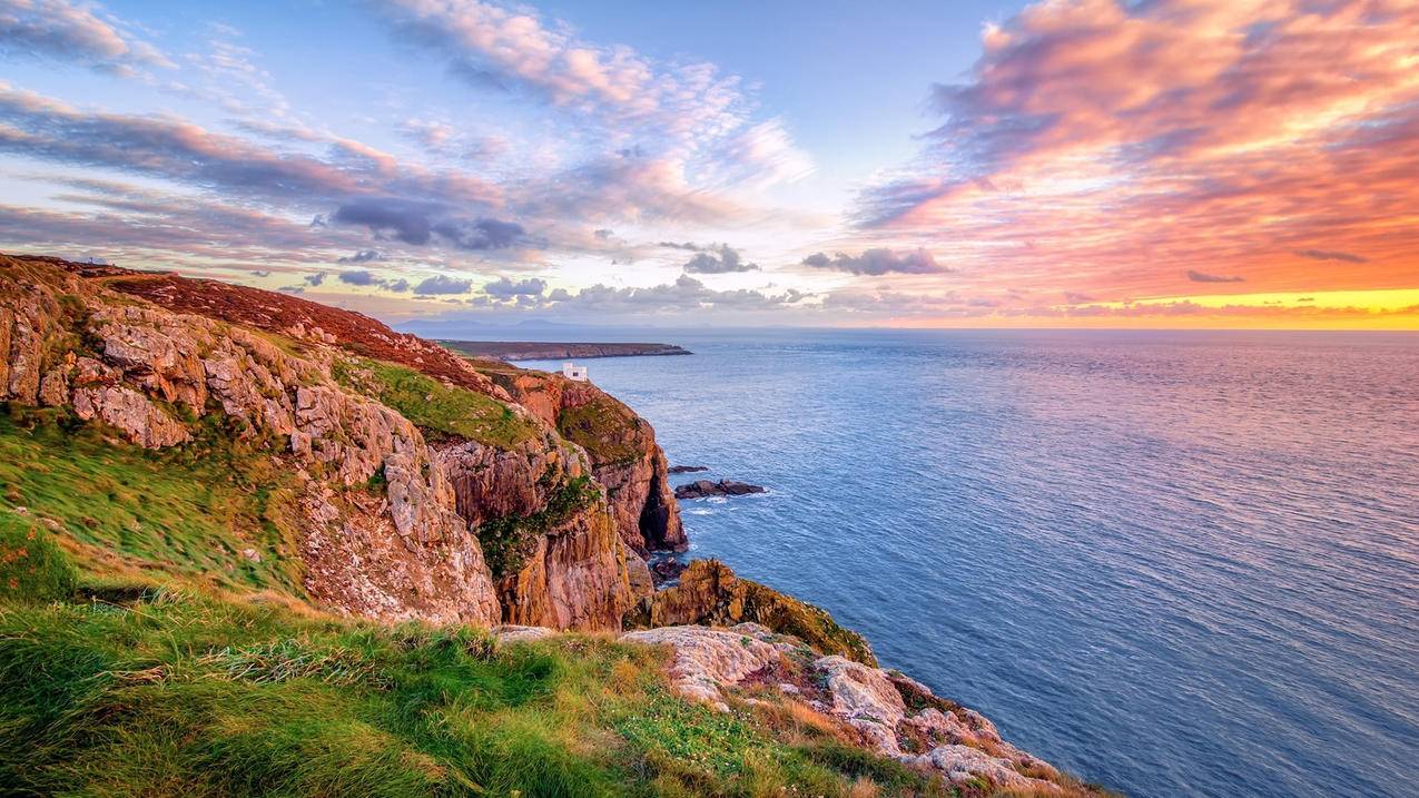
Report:
[[856,741],[952,784],[989,784],[1057,794],[1071,784],[1047,763],[1010,745],[981,714],[939,699],[924,684],[841,656],[819,656],[803,640],[758,623],[667,626],[620,638],[673,649],[671,684],[721,711],[729,701],[805,704],[853,731]]

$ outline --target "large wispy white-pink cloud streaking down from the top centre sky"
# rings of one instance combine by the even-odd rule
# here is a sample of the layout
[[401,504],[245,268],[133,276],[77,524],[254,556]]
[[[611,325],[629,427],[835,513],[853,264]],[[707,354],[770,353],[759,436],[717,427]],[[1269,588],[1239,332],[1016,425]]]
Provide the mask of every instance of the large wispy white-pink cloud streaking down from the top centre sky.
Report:
[[[478,92],[534,98],[597,152],[531,186],[553,207],[587,219],[742,212],[724,193],[795,180],[812,162],[780,119],[755,119],[736,75],[714,64],[660,62],[623,45],[578,38],[532,9],[480,0],[376,0],[392,33],[440,57]],[[423,126],[447,143],[446,131]],[[570,189],[570,190],[568,190]],[[553,195],[555,193],[555,195]]]

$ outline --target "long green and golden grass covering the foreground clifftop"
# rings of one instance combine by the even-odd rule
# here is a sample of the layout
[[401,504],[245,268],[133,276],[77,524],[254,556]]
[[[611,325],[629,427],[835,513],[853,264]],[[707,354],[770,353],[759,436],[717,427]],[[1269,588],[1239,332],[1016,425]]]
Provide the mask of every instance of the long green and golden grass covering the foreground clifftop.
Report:
[[85,595],[0,601],[0,792],[948,794],[782,713],[685,701],[657,649]]

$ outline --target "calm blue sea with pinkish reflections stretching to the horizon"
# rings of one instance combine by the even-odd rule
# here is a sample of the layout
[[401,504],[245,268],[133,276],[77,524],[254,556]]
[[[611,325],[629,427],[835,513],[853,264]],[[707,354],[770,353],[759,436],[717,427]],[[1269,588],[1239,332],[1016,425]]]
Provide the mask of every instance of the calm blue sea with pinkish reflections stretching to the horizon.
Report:
[[1419,795],[1419,335],[654,338],[692,555],[1132,795]]

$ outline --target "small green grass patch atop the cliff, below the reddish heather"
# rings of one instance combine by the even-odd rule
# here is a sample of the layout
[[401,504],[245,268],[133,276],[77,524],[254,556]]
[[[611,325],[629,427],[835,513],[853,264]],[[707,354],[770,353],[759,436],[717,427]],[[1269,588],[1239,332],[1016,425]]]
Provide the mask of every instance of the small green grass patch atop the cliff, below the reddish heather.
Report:
[[335,378],[346,388],[396,409],[431,442],[477,440],[512,450],[541,436],[536,423],[502,402],[446,385],[412,368],[369,358],[336,361]]

